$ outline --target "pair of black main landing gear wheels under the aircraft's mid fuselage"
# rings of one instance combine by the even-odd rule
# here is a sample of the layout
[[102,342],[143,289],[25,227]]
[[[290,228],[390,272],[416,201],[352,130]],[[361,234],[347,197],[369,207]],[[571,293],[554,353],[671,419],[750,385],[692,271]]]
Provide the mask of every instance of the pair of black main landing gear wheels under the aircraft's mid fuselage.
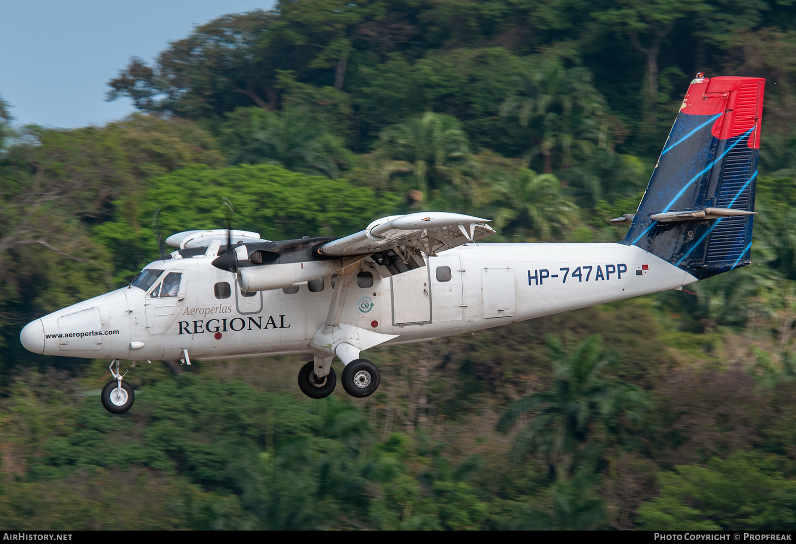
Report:
[[[381,375],[378,367],[368,359],[354,359],[343,368],[343,389],[352,397],[365,398],[379,387]],[[324,398],[334,391],[338,383],[334,368],[323,378],[315,375],[315,363],[310,361],[298,371],[298,388],[310,398]]]

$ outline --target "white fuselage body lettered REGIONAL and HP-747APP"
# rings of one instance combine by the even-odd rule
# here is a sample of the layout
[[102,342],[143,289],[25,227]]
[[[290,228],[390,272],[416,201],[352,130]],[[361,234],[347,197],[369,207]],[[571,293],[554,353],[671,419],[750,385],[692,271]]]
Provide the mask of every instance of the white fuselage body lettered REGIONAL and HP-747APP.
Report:
[[[34,321],[23,337],[41,332],[41,348],[32,351],[97,359],[180,359],[183,350],[193,360],[318,354],[310,343],[314,338],[317,343],[327,319],[330,276],[319,292],[303,284],[297,293],[273,289],[244,297],[235,274],[211,266],[213,258],[147,266],[183,274],[180,293],[169,300],[138,287],[116,289]],[[451,336],[696,282],[676,266],[620,243],[467,244],[427,262],[392,278],[371,270],[368,288],[354,278],[340,323],[369,337],[361,349]],[[443,266],[451,270],[447,281],[437,277]],[[367,263],[361,270],[369,270]],[[446,272],[441,270],[443,280]],[[218,282],[231,286],[228,298],[215,296]]]

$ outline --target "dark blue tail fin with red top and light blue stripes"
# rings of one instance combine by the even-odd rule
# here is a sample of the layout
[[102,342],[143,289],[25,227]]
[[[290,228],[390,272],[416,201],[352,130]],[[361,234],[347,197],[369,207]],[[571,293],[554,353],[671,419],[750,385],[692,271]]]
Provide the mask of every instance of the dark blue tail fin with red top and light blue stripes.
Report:
[[697,75],[622,243],[700,279],[749,264],[764,82]]

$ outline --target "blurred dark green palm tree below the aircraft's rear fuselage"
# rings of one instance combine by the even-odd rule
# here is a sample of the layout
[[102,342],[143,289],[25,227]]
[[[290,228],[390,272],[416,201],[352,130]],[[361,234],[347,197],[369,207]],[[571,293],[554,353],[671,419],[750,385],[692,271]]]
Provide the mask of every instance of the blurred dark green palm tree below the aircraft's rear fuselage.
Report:
[[615,427],[613,422],[621,413],[638,418],[646,400],[638,387],[603,376],[613,359],[603,352],[600,336],[589,336],[569,353],[556,337],[546,340],[555,375],[552,389],[513,402],[497,429],[508,431],[529,414],[529,422],[517,434],[512,457],[519,460],[529,452],[540,453],[551,473],[566,478],[582,460],[579,453],[592,425],[604,422]]

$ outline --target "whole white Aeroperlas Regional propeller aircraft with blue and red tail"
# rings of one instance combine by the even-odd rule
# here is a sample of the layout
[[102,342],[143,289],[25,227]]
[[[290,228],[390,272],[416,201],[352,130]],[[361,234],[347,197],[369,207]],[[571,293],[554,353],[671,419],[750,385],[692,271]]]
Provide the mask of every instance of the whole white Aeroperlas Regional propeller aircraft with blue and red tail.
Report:
[[[361,352],[682,289],[749,264],[762,78],[696,76],[619,243],[476,243],[489,221],[445,212],[384,217],[340,239],[270,242],[188,231],[130,286],[22,329],[29,351],[112,359],[105,408],[133,405],[119,361],[306,353],[298,387],[367,397]],[[135,366],[135,365],[133,365]]]

